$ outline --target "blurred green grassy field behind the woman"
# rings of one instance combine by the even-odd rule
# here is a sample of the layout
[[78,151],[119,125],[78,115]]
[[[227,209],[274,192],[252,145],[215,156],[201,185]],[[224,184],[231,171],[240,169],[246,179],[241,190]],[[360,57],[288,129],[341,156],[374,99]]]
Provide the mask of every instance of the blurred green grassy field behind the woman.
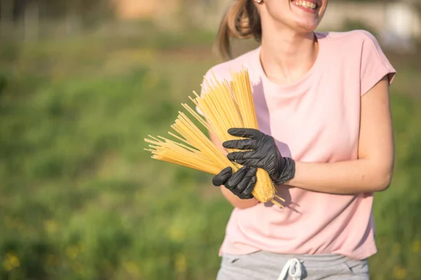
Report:
[[[212,34],[0,45],[0,279],[215,279],[231,207],[210,176],[149,158],[216,62]],[[421,69],[391,54],[393,185],[373,279],[421,279]]]

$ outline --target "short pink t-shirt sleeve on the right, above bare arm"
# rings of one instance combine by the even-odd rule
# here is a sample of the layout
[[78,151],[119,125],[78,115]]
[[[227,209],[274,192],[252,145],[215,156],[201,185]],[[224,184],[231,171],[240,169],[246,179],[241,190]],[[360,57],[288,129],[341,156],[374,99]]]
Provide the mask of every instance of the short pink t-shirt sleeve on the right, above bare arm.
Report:
[[389,77],[391,84],[396,75],[394,67],[380,48],[375,36],[367,31],[364,31],[364,35],[361,53],[361,96],[371,90],[384,76]]

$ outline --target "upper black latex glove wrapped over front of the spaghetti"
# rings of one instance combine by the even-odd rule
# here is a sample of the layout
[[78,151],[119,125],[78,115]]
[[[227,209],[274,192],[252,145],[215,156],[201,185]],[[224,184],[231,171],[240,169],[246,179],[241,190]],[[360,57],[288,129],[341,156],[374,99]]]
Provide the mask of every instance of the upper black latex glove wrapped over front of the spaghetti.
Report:
[[250,150],[229,153],[227,155],[229,160],[240,165],[265,169],[276,185],[282,185],[293,179],[295,162],[291,158],[284,158],[281,155],[272,136],[250,128],[231,128],[228,133],[247,139],[225,141],[222,146]]

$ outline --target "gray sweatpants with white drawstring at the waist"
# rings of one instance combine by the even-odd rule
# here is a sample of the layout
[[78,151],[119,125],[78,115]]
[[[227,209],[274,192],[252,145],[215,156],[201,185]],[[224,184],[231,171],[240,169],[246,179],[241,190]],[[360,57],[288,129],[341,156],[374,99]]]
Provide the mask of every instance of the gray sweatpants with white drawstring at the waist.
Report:
[[[284,277],[279,277],[286,274]],[[295,277],[293,277],[295,275]],[[367,280],[367,260],[343,255],[281,255],[258,251],[222,255],[217,280]]]

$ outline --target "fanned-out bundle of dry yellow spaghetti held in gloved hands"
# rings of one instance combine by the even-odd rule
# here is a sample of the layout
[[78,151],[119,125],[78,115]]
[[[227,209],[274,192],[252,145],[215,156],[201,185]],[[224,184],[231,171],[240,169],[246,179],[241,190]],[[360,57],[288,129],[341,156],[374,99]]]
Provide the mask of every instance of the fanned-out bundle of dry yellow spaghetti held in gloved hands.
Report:
[[[213,81],[205,80],[205,82],[210,86],[205,88],[202,85],[201,96],[194,92],[196,98],[189,97],[205,117],[200,116],[187,104],[182,104],[182,106],[206,130],[215,134],[220,141],[228,141],[241,139],[241,137],[230,135],[227,132],[229,128],[258,129],[253,92],[246,69],[242,69],[239,73],[232,73],[230,82],[226,80],[220,82],[216,78]],[[173,132],[168,132],[168,134],[182,143],[149,135],[150,139],[145,139],[145,141],[152,144],[149,145],[150,149],[147,149],[152,153],[152,158],[213,175],[218,174],[225,167],[232,167],[233,172],[241,168],[241,165],[228,160],[227,156],[201,132],[185,113],[178,112],[178,118],[171,128],[177,134]],[[235,150],[229,149],[229,151]],[[275,194],[276,189],[269,174],[263,169],[258,169],[256,176],[258,180],[252,195],[260,202],[272,202],[282,207],[275,198],[284,200]]]

